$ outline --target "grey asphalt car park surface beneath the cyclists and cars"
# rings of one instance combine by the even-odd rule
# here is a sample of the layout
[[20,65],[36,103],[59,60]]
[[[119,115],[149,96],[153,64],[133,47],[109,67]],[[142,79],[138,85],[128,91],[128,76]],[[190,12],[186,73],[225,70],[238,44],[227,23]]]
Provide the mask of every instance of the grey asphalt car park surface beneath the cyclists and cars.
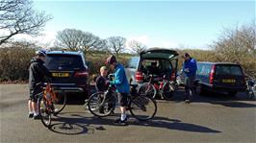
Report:
[[[156,117],[129,119],[113,125],[116,116],[93,117],[83,99],[69,96],[51,129],[27,117],[26,84],[0,85],[0,142],[256,142],[256,101],[245,94],[195,96],[190,105],[177,91],[173,101],[158,100]],[[116,109],[117,110],[117,109]]]

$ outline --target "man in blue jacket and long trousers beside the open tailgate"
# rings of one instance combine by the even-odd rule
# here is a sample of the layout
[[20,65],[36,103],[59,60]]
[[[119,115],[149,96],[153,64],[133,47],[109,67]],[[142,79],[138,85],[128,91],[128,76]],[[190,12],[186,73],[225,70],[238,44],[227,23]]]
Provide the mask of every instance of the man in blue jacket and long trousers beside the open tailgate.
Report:
[[183,72],[185,73],[185,102],[192,102],[192,96],[194,93],[194,79],[197,70],[196,60],[192,59],[192,57],[185,53],[183,56]]

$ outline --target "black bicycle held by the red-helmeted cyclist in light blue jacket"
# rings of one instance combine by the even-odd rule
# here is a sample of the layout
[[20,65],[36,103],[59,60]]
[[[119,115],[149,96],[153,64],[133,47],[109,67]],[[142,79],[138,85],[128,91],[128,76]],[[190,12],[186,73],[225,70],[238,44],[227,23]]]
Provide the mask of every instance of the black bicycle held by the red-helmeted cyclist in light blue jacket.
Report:
[[[140,121],[152,119],[157,112],[157,104],[152,98],[139,94],[137,86],[137,84],[130,84],[131,94],[128,96],[127,110]],[[90,112],[98,117],[110,115],[115,109],[116,95],[113,84],[109,85],[106,92],[92,94],[88,100]]]

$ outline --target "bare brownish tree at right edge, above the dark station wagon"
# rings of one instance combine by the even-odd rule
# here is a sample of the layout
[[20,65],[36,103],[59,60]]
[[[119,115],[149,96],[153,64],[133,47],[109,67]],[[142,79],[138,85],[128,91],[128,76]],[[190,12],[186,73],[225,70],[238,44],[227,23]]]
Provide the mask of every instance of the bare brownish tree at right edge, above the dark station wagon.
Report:
[[236,29],[225,29],[212,45],[218,61],[233,61],[243,65],[246,74],[256,77],[256,26],[255,23]]

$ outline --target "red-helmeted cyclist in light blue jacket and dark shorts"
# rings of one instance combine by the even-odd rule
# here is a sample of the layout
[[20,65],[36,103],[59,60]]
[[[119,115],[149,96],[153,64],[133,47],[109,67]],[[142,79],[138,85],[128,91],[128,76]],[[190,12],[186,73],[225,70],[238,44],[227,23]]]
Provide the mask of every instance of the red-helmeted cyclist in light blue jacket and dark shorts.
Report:
[[106,63],[109,64],[113,70],[115,70],[115,80],[111,81],[110,83],[114,84],[116,87],[118,104],[121,110],[121,118],[115,120],[114,124],[124,126],[127,125],[128,119],[126,115],[126,107],[128,106],[127,98],[130,92],[130,86],[126,78],[124,67],[122,64],[117,62],[115,56],[110,56]]

